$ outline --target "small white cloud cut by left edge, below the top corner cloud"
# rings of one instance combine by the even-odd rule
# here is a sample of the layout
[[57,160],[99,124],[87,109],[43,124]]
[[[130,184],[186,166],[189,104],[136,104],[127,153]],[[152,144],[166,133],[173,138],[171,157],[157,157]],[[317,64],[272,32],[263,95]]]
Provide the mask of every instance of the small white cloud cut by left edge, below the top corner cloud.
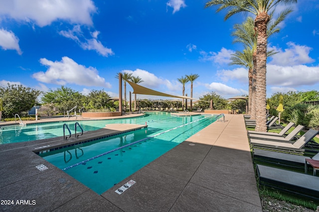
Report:
[[19,55],[22,54],[19,47],[19,39],[12,31],[6,31],[3,28],[0,29],[0,46],[4,50],[12,49],[16,50]]

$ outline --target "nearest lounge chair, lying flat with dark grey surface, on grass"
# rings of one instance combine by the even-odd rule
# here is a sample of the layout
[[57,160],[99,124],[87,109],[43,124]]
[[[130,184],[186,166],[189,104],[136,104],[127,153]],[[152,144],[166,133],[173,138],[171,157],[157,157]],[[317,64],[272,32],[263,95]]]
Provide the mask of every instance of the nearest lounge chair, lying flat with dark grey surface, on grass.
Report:
[[319,200],[319,177],[256,164],[259,186]]

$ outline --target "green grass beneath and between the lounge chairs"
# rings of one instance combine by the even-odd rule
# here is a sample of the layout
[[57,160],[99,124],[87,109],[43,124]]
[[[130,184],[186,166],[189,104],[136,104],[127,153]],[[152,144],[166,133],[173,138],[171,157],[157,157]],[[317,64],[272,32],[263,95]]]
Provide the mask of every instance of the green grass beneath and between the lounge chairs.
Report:
[[[281,123],[282,126],[286,126],[287,124],[285,123]],[[295,127],[292,127],[288,130],[288,132],[290,133],[291,131],[293,131],[295,129]],[[247,130],[255,130],[255,128],[252,127],[247,127]],[[281,131],[281,129],[269,129],[269,132],[277,132],[279,133]],[[301,131],[300,133],[298,133],[299,136],[302,136],[303,134],[305,134],[306,132]],[[313,141],[319,143],[319,138],[318,137],[314,137],[312,139]],[[265,162],[267,163],[267,162]],[[262,163],[259,163],[262,164]],[[255,165],[255,164],[254,164]],[[266,164],[265,164],[266,165]],[[267,165],[270,165],[269,163],[267,163]],[[283,167],[283,166],[279,166],[279,165],[270,165],[273,167],[277,167],[277,168],[285,168],[287,169],[287,167]],[[298,169],[294,169],[294,168],[288,168],[291,171],[295,171],[295,172],[302,172],[301,170]],[[258,183],[258,176],[256,175],[256,179],[257,179],[257,183]],[[297,206],[303,206],[312,210],[316,210],[317,206],[319,206],[319,201],[313,201],[304,197],[297,197],[294,194],[288,193],[288,192],[284,192],[284,191],[278,191],[274,188],[270,188],[270,187],[265,187],[265,186],[261,186],[259,187],[258,185],[258,191],[259,191],[259,195],[265,199],[267,199],[267,197],[271,197],[280,201],[285,201]]]

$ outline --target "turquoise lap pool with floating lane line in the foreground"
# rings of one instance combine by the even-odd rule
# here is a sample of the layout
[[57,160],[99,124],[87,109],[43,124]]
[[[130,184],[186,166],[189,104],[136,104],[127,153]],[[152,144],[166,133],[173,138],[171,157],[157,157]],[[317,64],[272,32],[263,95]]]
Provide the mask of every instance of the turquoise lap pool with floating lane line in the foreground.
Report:
[[[150,113],[136,120],[145,123],[146,119],[149,119],[147,129],[42,153],[40,156],[102,194],[214,122],[216,116],[177,117],[169,113]],[[137,123],[141,123],[139,121]]]

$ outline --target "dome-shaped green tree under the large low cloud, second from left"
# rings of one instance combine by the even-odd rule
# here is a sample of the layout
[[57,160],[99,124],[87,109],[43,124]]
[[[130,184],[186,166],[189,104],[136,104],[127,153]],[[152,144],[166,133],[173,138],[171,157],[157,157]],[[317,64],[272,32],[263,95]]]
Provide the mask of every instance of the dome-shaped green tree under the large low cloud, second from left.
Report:
[[50,89],[41,98],[45,104],[54,104],[59,110],[62,110],[65,114],[74,106],[81,106],[83,103],[83,95],[74,91],[71,88],[61,86],[56,90]]

